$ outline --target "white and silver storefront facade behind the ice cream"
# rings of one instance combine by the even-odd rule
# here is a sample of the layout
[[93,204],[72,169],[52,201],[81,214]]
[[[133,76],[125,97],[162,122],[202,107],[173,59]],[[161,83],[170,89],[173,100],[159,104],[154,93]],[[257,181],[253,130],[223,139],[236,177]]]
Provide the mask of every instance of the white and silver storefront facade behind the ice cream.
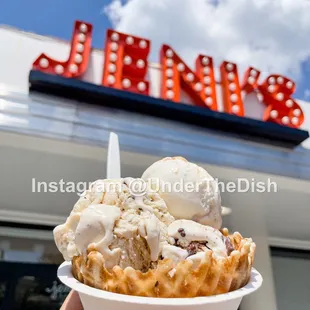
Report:
[[[309,103],[297,100],[304,115],[301,130],[264,127],[260,122],[260,130],[266,132],[257,138],[252,127],[248,127],[251,134],[244,128],[238,132],[236,119],[221,119],[235,122],[228,130],[222,125],[206,128],[201,117],[199,124],[189,123],[184,110],[179,120],[179,110],[157,115],[152,110],[156,101],[147,102],[150,112],[143,114],[119,108],[136,100],[122,91],[102,97],[113,97],[115,107],[100,104],[101,97],[92,97],[91,90],[102,82],[104,57],[100,50],[91,51],[82,82],[78,81],[82,84],[76,84],[77,80],[31,71],[41,53],[65,61],[70,52],[68,42],[1,27],[0,43],[3,309],[13,309],[12,303],[16,310],[33,309],[34,304],[36,309],[47,304],[50,309],[59,308],[68,291],[56,279],[61,257],[52,229],[65,220],[85,184],[105,177],[111,131],[119,135],[123,176],[139,177],[159,158],[179,155],[199,163],[223,184],[223,205],[231,209],[224,224],[253,237],[257,243],[255,266],[264,278],[263,287],[247,297],[241,309],[286,310],[295,299],[299,300],[294,304],[296,310],[309,306],[305,289],[309,288],[306,279],[310,270],[310,139],[305,136],[310,130]],[[161,72],[159,65],[149,64],[150,98],[160,96]],[[215,87],[220,94],[222,84],[217,81]],[[218,106],[223,112],[220,97]],[[189,107],[190,115],[191,98],[182,94],[181,101]],[[248,118],[262,118],[265,107],[257,96],[246,96],[244,106]],[[207,115],[206,121],[210,117],[214,116]],[[274,131],[265,139],[268,130]],[[228,183],[235,185],[229,187]],[[290,274],[290,269],[295,272]],[[292,281],[297,283],[295,287]]]

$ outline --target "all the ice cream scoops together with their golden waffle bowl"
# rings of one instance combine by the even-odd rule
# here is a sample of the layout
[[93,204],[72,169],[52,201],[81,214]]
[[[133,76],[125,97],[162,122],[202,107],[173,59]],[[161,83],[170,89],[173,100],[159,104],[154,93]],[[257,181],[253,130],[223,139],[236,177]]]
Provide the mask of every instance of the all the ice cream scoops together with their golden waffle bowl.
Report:
[[170,185],[183,179],[183,185],[199,183],[198,191],[172,186],[157,192],[154,183],[133,178],[94,182],[54,229],[74,277],[110,292],[149,297],[208,296],[245,285],[255,244],[219,230],[214,179],[180,157],[156,162],[142,177]]

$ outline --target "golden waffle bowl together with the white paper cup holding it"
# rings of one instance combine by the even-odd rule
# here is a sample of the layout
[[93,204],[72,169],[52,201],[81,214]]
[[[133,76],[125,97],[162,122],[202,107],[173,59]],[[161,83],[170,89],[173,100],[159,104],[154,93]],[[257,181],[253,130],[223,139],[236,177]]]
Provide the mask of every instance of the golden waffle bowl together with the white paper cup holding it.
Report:
[[227,259],[217,261],[209,252],[197,268],[191,262],[174,266],[163,260],[147,273],[117,266],[109,272],[99,253],[90,250],[85,257],[64,262],[58,277],[79,293],[84,310],[237,310],[263,280],[252,268],[252,240],[239,233],[229,238],[236,250]]

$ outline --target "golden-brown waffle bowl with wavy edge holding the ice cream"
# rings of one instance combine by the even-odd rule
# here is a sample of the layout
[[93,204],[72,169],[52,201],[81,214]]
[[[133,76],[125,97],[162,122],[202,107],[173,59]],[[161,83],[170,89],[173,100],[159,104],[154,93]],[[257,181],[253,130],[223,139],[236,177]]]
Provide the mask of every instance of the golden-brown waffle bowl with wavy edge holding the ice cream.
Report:
[[[223,234],[228,235],[227,230]],[[145,273],[119,266],[108,271],[101,253],[89,249],[87,254],[73,258],[72,273],[86,285],[126,295],[185,298],[223,294],[248,283],[256,248],[252,239],[239,233],[228,237],[235,248],[229,256],[217,259],[208,251],[195,268],[191,260],[175,264],[171,259],[164,259]]]

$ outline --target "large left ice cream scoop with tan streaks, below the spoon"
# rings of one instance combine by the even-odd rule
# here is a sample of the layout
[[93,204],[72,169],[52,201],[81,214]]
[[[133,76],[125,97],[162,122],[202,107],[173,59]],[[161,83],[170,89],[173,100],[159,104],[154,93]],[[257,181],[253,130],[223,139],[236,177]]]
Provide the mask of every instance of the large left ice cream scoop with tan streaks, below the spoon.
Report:
[[157,193],[134,196],[128,185],[132,180],[98,180],[80,197],[66,222],[54,229],[66,260],[90,249],[101,253],[108,269],[147,270],[158,260],[174,218]]

